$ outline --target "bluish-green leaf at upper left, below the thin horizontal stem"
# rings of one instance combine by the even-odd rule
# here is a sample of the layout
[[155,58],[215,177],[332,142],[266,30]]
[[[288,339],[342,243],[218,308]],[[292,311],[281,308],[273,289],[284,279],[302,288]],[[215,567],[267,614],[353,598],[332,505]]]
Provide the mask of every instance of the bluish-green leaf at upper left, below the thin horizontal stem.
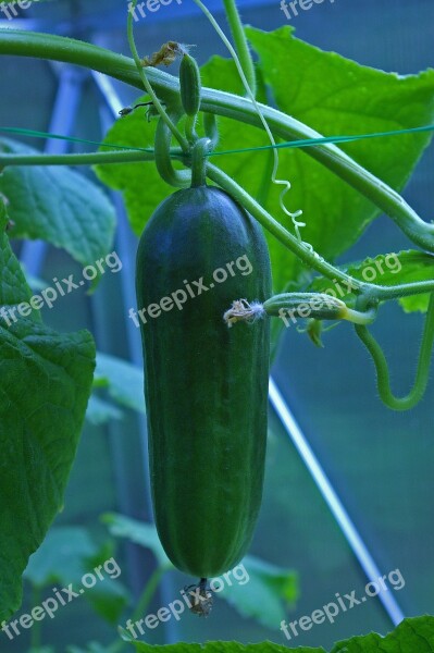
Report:
[[[38,153],[9,138],[0,139],[0,150]],[[15,223],[12,237],[41,238],[63,247],[83,266],[111,250],[114,209],[96,184],[70,168],[7,168],[0,175],[0,192]]]

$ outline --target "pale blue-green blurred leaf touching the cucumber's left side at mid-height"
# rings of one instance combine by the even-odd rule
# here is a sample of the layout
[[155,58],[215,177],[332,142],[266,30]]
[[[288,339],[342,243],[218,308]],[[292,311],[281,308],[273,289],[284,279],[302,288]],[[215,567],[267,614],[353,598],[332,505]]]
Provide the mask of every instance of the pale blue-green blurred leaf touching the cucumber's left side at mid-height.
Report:
[[95,383],[106,385],[109,395],[121,406],[145,412],[144,371],[126,360],[97,354]]

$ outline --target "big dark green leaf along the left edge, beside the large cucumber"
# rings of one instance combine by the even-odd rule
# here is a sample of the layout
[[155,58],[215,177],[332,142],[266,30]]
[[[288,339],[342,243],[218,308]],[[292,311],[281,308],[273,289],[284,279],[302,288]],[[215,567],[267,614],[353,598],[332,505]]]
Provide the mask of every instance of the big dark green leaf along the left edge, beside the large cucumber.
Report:
[[[0,210],[3,311],[30,295],[5,223]],[[20,606],[28,557],[62,508],[94,367],[88,332],[59,334],[32,316],[0,315],[0,621]]]

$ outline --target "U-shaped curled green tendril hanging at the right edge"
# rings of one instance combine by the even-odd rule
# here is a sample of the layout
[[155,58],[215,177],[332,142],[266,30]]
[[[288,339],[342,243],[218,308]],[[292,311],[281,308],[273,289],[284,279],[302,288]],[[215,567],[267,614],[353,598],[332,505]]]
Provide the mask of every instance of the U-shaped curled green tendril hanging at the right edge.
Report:
[[356,333],[371,354],[376,370],[376,384],[382,402],[393,410],[409,410],[422,399],[425,394],[429,375],[431,354],[434,344],[434,293],[431,294],[430,305],[423,329],[422,343],[419,353],[418,371],[414,385],[405,397],[396,397],[390,390],[390,378],[387,360],[383,349],[367,326],[357,324]]

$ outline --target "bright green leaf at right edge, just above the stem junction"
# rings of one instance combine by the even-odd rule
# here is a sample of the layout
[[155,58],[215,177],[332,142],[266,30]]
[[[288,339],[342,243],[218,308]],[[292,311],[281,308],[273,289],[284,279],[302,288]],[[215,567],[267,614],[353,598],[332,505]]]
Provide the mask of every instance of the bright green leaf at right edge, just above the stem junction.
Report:
[[[408,249],[405,251],[379,255],[375,258],[367,258],[364,261],[342,266],[340,270],[347,272],[354,279],[367,281],[379,285],[390,286],[419,281],[430,281],[434,278],[434,255],[424,251]],[[333,283],[328,279],[318,276],[310,285],[311,291],[325,293],[343,299],[351,305],[355,301],[352,287],[344,283]],[[426,312],[429,294],[404,297],[399,303],[407,312]]]

